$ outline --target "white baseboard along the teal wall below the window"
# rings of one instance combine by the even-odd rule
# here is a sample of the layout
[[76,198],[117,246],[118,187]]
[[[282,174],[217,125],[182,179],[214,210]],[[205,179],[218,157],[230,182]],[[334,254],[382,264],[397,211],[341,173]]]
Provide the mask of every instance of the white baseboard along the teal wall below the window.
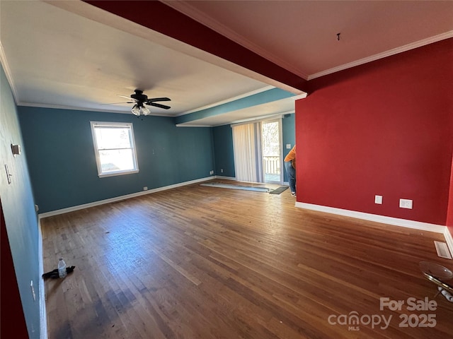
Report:
[[197,182],[205,182],[207,180],[214,179],[212,177],[205,177],[202,179],[191,180],[190,182],[180,182],[179,184],[173,184],[168,186],[158,187],[156,189],[149,189],[148,191],[139,191],[137,193],[126,194],[125,196],[115,196],[115,198],[108,198],[100,201],[93,201],[92,203],[84,203],[83,205],[71,206],[68,208],[62,208],[61,210],[51,210],[50,212],[40,213],[39,218],[47,218],[52,215],[59,215],[64,213],[73,212],[74,210],[83,210],[84,208],[90,208],[94,206],[104,205],[105,203],[114,203],[115,201],[121,201],[129,198],[135,198],[136,196],[144,196],[145,194],[151,194],[159,191],[166,191],[168,189],[175,189],[176,187],[186,186],[190,184],[196,184]]

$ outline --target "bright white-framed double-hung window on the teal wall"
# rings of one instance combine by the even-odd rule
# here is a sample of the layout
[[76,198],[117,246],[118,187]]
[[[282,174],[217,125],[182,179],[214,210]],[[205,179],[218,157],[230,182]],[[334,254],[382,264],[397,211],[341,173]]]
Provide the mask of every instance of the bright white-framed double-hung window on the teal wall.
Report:
[[91,121],[99,177],[139,172],[130,123]]

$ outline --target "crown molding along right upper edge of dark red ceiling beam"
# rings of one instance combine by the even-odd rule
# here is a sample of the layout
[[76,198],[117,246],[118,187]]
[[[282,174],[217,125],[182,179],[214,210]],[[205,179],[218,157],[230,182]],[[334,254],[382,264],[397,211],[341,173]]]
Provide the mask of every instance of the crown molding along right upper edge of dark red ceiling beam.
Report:
[[247,40],[245,37],[243,37],[242,35],[239,35],[234,30],[231,30],[230,28],[226,27],[222,23],[219,23],[219,21],[214,20],[210,16],[207,16],[202,11],[200,11],[197,8],[190,5],[188,3],[188,1],[173,1],[173,0],[168,1],[168,0],[166,0],[166,1],[161,1],[161,2],[163,2],[167,6],[173,8],[174,10],[176,10],[180,13],[183,13],[185,16],[192,18],[193,20],[197,21],[198,23],[201,23],[202,25],[205,25],[208,28],[211,28],[215,32],[218,32],[219,34],[224,35],[224,37],[227,37],[230,40],[240,44],[242,47],[245,47],[246,49],[249,49],[252,52],[255,52],[260,57],[268,59],[269,61],[273,62],[273,64],[276,64],[276,65],[282,67],[283,69],[286,69],[287,71],[290,71],[291,73],[294,73],[295,75],[303,78],[304,80],[308,80],[308,74],[302,73],[299,69],[294,68],[294,66],[292,66],[292,64],[289,64],[286,61],[283,61],[279,57],[275,56],[275,54],[268,52],[266,49],[263,49],[262,47],[258,46],[258,44],[255,44],[254,42]]

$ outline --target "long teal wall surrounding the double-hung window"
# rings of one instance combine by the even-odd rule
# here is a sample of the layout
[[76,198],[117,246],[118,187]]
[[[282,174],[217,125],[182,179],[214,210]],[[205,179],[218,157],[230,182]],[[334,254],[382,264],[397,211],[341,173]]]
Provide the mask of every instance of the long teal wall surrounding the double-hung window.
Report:
[[[170,117],[18,107],[40,213],[210,176],[211,128]],[[98,177],[90,121],[132,122],[139,172]]]

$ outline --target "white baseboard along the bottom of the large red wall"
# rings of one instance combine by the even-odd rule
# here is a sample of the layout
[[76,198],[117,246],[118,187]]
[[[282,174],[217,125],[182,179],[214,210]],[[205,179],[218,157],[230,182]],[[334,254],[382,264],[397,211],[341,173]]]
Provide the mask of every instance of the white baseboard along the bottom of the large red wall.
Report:
[[385,215],[377,215],[370,213],[357,212],[355,210],[343,210],[342,208],[333,208],[328,206],[314,205],[312,203],[296,202],[296,207],[306,208],[307,210],[318,210],[319,212],[331,213],[337,215],[345,215],[357,219],[369,220],[374,222],[382,222],[388,225],[413,228],[415,230],[423,230],[427,232],[435,232],[445,234],[446,226],[430,224],[428,222],[420,222],[414,220],[399,219],[386,217]]

